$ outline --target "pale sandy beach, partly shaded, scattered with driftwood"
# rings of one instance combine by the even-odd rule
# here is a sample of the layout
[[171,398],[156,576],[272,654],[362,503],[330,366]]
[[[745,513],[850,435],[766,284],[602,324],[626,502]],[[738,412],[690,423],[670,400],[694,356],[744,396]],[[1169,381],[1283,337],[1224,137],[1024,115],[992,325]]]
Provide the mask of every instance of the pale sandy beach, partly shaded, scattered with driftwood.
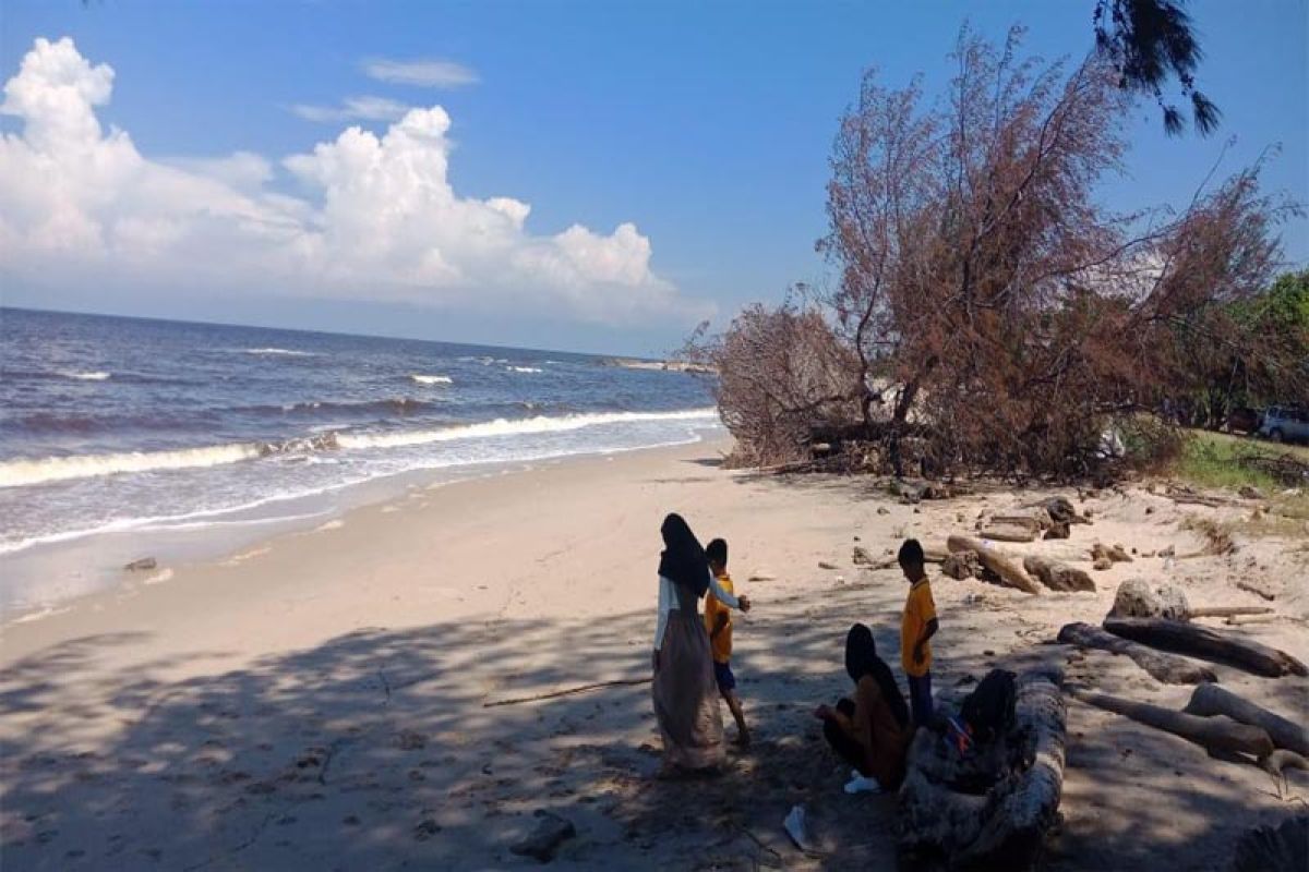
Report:
[[[870,478],[721,468],[706,442],[572,459],[414,486],[209,563],[124,575],[113,591],[5,626],[0,648],[0,843],[5,869],[490,869],[534,813],[569,820],[565,868],[894,868],[894,797],[847,796],[810,716],[846,690],[842,645],[869,624],[899,673],[906,586],[855,566],[905,536],[927,545],[1046,492],[902,505]],[[1140,488],[1077,498],[1094,524],[1014,546],[1090,569],[1092,541],[1135,549],[1094,594],[1025,595],[932,573],[939,705],[997,664],[1049,659],[1069,682],[1178,707],[1126,658],[1050,645],[1098,624],[1127,578],[1170,580],[1196,604],[1266,605],[1241,628],[1309,658],[1306,532],[1293,523],[1199,552],[1178,505]],[[681,511],[732,544],[734,669],[755,748],[715,780],[658,782],[649,673],[658,524]],[[1302,526],[1302,522],[1299,522]],[[819,562],[835,566],[823,569]],[[750,580],[758,578],[759,580]],[[1309,681],[1216,667],[1224,686],[1302,718]],[[1304,800],[1263,771],[1069,701],[1055,869],[1207,869],[1247,828]],[[724,714],[725,709],[724,709]],[[730,722],[730,719],[728,719]],[[730,732],[729,726],[729,732]],[[1292,777],[1291,794],[1305,790]],[[810,851],[781,821],[804,805]]]

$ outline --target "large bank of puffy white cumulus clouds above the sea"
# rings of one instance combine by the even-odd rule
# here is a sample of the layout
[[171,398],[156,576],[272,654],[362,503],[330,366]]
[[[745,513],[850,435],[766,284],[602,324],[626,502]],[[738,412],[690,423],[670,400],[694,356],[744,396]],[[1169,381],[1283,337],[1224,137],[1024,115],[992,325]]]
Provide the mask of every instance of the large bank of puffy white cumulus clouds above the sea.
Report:
[[279,162],[152,159],[101,126],[113,88],[114,71],[67,38],[37,39],[5,85],[0,112],[21,122],[0,137],[0,269],[10,276],[602,323],[704,314],[652,271],[632,224],[541,235],[526,226],[529,204],[457,193],[440,106],[404,110],[382,133],[348,127]]

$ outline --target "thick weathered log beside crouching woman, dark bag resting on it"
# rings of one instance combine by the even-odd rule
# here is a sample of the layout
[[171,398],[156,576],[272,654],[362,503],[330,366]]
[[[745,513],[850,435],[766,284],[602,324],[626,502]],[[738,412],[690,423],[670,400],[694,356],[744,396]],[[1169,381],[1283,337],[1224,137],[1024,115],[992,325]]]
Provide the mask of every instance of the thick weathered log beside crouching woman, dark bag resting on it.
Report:
[[[963,765],[941,736],[919,729],[899,791],[897,831],[910,858],[944,860],[952,869],[1028,869],[1041,854],[1063,794],[1067,706],[1058,669],[1017,680],[1013,728],[984,753],[994,782],[958,786]],[[980,753],[980,752],[979,752]]]

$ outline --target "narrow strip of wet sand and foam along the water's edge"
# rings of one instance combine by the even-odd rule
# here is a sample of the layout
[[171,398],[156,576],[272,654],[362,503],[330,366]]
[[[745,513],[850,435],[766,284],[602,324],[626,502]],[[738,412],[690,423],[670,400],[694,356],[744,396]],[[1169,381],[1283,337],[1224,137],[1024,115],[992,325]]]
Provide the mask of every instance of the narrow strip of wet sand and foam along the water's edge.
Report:
[[[42,541],[0,553],[0,630],[68,611],[79,600],[113,592],[120,586],[168,580],[183,566],[215,563],[258,549],[284,535],[305,533],[332,524],[353,511],[418,490],[466,481],[530,473],[545,465],[589,458],[660,451],[726,439],[721,426],[698,429],[692,438],[634,448],[600,448],[546,455],[526,460],[487,460],[450,467],[410,469],[367,481],[347,482],[315,493],[270,498],[250,507],[215,511],[194,520],[148,518],[122,529],[75,532],[68,539]],[[168,523],[175,522],[175,523]],[[128,570],[127,565],[154,558],[157,569]],[[153,582],[152,582],[153,579]],[[29,592],[43,587],[45,591]]]

